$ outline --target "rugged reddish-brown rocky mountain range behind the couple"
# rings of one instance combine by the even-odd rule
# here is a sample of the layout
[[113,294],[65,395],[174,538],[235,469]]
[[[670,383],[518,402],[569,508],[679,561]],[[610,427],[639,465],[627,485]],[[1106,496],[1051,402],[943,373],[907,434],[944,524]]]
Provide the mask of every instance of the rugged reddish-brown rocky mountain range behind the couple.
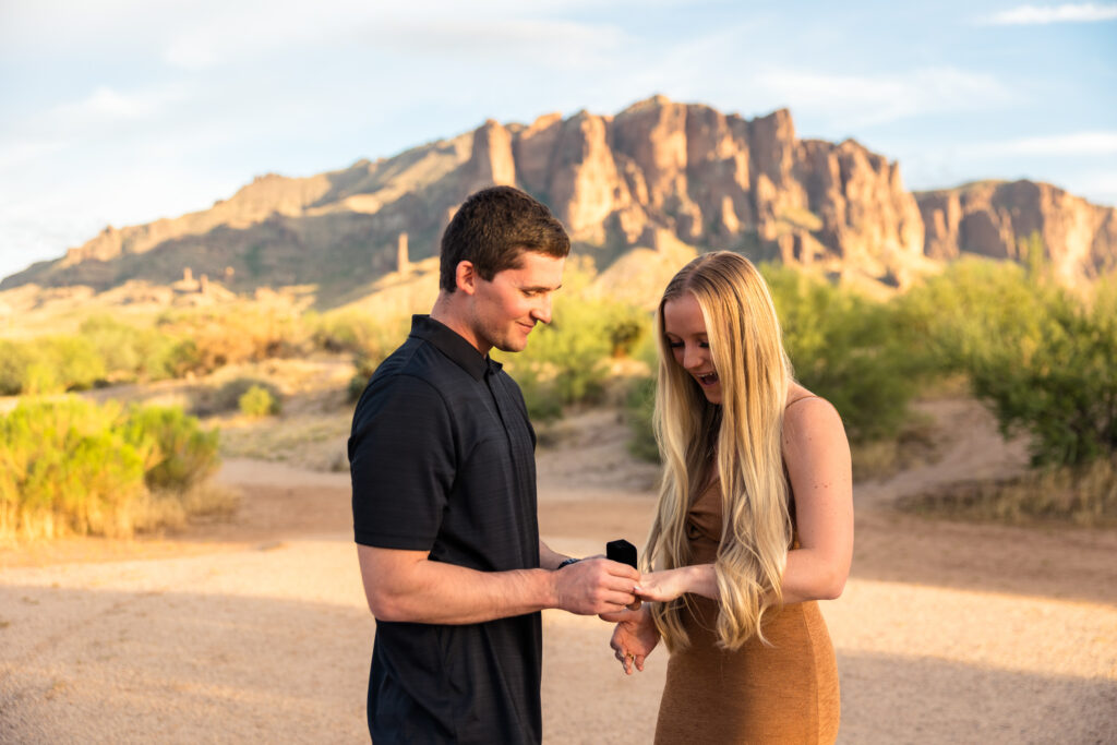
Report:
[[314,284],[340,296],[436,255],[456,206],[494,183],[546,202],[601,268],[681,241],[905,286],[967,251],[1019,258],[1032,231],[1068,283],[1117,262],[1115,210],[1049,184],[913,194],[897,163],[852,140],[800,140],[785,109],[745,120],[656,96],[613,116],[489,121],[341,171],[259,176],[209,210],[108,227],[0,289],[165,285],[190,269],[237,290]]

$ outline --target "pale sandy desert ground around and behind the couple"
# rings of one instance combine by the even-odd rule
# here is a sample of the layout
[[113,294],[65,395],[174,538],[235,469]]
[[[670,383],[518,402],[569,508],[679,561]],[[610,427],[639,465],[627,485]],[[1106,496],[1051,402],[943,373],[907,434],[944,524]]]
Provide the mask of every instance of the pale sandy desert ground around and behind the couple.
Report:
[[[972,403],[939,402],[944,458],[857,488],[853,574],[823,612],[843,743],[1117,742],[1117,531],[928,520],[889,503],[1019,468]],[[642,544],[655,468],[614,416],[540,455],[544,538]],[[254,460],[237,517],[184,536],[0,552],[0,742],[367,742],[374,624],[347,476]],[[547,743],[650,742],[666,666],[626,678],[611,629],[544,613]]]

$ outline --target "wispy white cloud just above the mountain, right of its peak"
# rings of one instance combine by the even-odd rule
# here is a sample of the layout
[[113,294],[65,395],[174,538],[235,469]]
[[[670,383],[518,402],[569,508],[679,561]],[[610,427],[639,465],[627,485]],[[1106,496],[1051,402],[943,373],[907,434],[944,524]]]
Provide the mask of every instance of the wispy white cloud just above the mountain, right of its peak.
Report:
[[822,114],[844,127],[984,109],[1014,98],[993,75],[951,67],[882,75],[768,69],[756,82],[792,111]]

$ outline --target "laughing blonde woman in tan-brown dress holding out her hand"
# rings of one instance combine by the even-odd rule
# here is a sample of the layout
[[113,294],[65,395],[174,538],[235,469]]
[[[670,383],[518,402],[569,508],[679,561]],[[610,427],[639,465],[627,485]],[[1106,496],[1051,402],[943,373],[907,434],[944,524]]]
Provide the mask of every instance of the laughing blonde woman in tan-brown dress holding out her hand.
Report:
[[609,617],[611,646],[631,674],[666,641],[657,743],[833,742],[838,674],[814,601],[841,594],[852,556],[841,419],[792,378],[747,259],[688,264],[657,325],[665,474],[637,589],[651,602]]

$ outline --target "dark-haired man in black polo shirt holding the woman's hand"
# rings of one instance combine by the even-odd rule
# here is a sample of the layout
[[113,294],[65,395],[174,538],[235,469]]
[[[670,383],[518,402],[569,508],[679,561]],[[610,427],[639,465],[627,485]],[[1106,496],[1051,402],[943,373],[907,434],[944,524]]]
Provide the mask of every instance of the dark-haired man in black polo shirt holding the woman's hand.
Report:
[[[538,537],[535,432],[488,357],[551,322],[570,239],[508,187],[472,194],[442,236],[429,316],[353,416],[353,522],[376,639],[369,730],[389,743],[538,743],[541,613],[632,603],[636,570]],[[576,563],[575,563],[576,562]]]

